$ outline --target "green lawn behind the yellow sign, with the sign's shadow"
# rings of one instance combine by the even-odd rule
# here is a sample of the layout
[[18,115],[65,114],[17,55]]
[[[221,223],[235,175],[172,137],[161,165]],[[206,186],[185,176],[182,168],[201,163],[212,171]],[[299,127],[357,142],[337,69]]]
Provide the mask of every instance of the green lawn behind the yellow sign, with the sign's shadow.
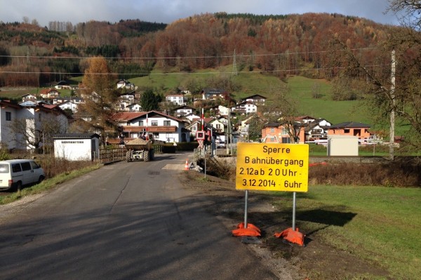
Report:
[[[288,213],[292,195],[277,195],[285,199],[278,208]],[[380,265],[392,279],[419,278],[421,189],[314,185],[297,197],[297,227],[314,232],[312,239]]]

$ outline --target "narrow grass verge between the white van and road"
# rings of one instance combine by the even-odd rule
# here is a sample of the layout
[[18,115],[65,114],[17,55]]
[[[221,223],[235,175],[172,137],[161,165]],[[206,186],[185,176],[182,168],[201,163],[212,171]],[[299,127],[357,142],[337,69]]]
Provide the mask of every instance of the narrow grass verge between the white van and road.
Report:
[[39,194],[41,192],[45,192],[53,187],[60,185],[62,182],[66,182],[68,180],[72,180],[73,178],[77,178],[81,175],[94,171],[102,166],[102,164],[95,164],[91,166],[83,167],[79,170],[63,172],[51,179],[44,180],[43,182],[32,185],[30,187],[23,188],[20,192],[13,192],[6,196],[0,196],[0,205],[1,204],[8,204],[13,201],[17,201],[21,199],[23,196],[31,195],[31,194]]

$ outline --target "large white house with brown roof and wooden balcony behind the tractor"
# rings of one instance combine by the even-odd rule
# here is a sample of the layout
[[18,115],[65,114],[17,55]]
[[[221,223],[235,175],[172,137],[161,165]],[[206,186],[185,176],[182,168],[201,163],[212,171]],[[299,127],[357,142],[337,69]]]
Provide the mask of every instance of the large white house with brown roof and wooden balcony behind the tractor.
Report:
[[121,126],[125,140],[140,138],[147,133],[164,142],[190,141],[185,121],[161,112],[120,112],[114,114],[112,120]]

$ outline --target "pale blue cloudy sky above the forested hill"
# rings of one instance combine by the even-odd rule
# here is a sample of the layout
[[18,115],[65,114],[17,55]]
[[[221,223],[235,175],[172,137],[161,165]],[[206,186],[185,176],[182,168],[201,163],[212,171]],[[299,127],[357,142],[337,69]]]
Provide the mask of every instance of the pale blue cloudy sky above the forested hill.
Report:
[[388,0],[0,0],[0,21],[69,21],[74,25],[88,20],[140,19],[171,23],[201,13],[253,13],[286,15],[290,13],[340,13],[397,25],[396,16],[385,13]]

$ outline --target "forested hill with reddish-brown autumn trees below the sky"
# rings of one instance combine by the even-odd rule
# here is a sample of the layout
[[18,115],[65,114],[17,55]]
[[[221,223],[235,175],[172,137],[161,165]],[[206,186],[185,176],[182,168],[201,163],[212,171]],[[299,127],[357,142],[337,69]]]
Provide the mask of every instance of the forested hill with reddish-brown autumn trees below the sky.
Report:
[[1,23],[0,86],[38,86],[55,81],[55,73],[61,77],[83,73],[81,58],[93,55],[114,58],[112,69],[121,77],[127,77],[124,72],[147,74],[153,67],[192,72],[231,65],[234,52],[239,71],[279,75],[285,69],[322,69],[333,36],[350,48],[362,49],[377,46],[388,28],[364,18],[328,13],[206,13],[170,25],[141,20],[74,26],[50,22],[44,28]]

